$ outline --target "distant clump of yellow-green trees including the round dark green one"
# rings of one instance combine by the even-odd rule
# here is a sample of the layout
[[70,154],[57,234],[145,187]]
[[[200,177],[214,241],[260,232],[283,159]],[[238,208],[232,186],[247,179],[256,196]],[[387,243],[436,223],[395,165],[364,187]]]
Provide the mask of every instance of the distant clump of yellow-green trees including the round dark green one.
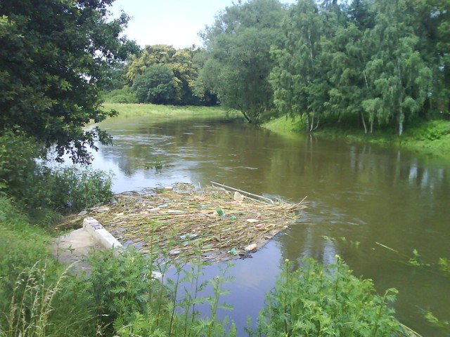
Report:
[[217,96],[202,84],[206,53],[193,46],[176,50],[165,44],[146,46],[110,72],[103,87],[111,103],[216,105]]

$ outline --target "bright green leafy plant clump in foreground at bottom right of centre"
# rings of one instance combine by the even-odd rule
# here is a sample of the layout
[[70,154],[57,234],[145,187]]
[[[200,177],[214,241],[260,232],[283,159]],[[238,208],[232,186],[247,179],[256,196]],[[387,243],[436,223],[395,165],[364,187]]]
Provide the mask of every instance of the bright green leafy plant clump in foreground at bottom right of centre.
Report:
[[340,258],[326,267],[304,259],[295,271],[286,260],[257,336],[395,336],[401,328],[388,305],[395,293],[378,296],[371,280],[354,277]]

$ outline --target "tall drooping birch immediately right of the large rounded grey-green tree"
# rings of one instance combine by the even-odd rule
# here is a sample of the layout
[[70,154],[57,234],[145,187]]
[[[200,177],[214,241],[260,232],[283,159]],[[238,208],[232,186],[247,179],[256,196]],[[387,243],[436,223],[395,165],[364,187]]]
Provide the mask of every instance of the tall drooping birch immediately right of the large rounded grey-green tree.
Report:
[[274,103],[278,111],[292,117],[304,114],[307,131],[319,126],[328,102],[329,65],[321,60],[321,39],[328,35],[330,24],[335,24],[332,13],[319,13],[314,0],[300,0],[283,21],[281,48],[272,49],[275,67],[270,79]]

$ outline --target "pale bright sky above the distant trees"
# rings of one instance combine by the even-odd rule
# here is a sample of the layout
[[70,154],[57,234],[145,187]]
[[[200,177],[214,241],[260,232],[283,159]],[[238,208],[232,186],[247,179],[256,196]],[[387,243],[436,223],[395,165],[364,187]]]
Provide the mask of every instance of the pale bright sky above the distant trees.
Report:
[[122,10],[131,16],[124,34],[141,47],[168,44],[186,48],[202,46],[198,32],[212,25],[219,11],[232,5],[233,0],[115,0],[110,11],[113,18]]

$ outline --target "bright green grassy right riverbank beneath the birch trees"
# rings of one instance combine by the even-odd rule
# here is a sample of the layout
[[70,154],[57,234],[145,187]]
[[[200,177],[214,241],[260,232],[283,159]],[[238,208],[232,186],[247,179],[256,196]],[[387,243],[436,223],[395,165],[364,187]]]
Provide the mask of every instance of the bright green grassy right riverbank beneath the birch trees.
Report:
[[[302,119],[286,119],[278,117],[264,124],[263,128],[283,134],[304,133]],[[365,134],[363,130],[348,129],[343,126],[323,126],[314,135],[323,138],[341,138],[350,143],[371,143],[386,147],[399,147],[414,152],[430,154],[436,157],[449,157],[450,154],[450,121],[425,121],[422,124],[406,126],[404,134],[399,137],[395,130],[374,131]]]

